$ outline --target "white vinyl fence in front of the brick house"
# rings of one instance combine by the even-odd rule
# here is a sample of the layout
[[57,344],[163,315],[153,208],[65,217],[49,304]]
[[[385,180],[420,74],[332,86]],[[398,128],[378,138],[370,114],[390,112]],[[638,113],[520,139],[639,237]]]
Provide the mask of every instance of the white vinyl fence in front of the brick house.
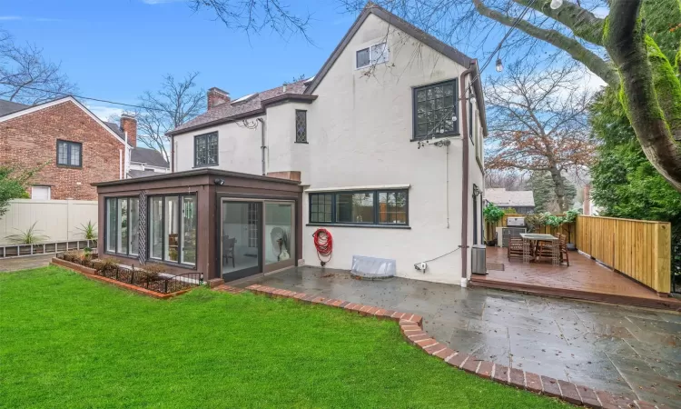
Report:
[[[35,223],[45,243],[83,240],[81,224],[97,223],[97,201],[16,199],[0,216],[0,246],[10,244],[5,237],[24,232]],[[95,225],[99,231],[99,224]]]

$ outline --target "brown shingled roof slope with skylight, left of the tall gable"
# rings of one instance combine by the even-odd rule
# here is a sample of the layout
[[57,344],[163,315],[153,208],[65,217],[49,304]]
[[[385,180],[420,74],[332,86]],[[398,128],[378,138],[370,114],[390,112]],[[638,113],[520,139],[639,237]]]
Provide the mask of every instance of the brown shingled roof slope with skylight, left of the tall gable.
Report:
[[[248,116],[264,114],[266,105],[278,103],[281,101],[296,99],[303,101],[312,101],[317,97],[314,95],[303,95],[305,92],[305,80],[297,81],[285,86],[280,85],[276,88],[268,89],[260,93],[255,93],[249,98],[237,98],[229,103],[217,105],[208,112],[193,118],[191,121],[185,122],[168,132],[168,135],[182,134],[193,129],[200,129],[207,126],[218,125],[225,122],[230,122],[236,119],[241,119]],[[242,101],[240,101],[242,100]]]

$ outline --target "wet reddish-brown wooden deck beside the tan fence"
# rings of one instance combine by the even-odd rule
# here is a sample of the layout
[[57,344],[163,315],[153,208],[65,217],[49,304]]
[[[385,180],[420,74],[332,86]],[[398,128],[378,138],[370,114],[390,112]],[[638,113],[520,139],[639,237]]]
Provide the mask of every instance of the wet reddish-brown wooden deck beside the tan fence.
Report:
[[[505,248],[488,247],[488,275],[473,274],[471,285],[577,298],[614,304],[681,311],[681,300],[658,295],[643,284],[598,264],[586,254],[570,252],[570,266],[508,261]],[[492,270],[503,264],[504,271]]]

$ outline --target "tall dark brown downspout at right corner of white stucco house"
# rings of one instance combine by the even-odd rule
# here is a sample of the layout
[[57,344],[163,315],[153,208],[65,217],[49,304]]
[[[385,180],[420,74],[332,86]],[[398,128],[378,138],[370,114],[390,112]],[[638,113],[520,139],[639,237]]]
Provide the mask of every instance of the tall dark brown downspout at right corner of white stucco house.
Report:
[[[469,95],[466,92],[466,76],[473,73],[475,60],[471,61],[469,69],[459,75],[459,88],[461,95],[461,130],[463,131],[462,148],[463,160],[461,161],[461,173],[463,182],[461,188],[461,286],[469,284],[469,115],[467,112]],[[471,84],[472,87],[472,84]]]

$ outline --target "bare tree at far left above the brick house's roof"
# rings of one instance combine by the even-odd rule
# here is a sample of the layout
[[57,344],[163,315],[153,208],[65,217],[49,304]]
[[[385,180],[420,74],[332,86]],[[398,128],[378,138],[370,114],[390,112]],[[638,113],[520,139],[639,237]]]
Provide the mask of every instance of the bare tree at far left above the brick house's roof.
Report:
[[0,97],[34,105],[76,92],[61,65],[45,60],[41,48],[17,45],[0,31]]

